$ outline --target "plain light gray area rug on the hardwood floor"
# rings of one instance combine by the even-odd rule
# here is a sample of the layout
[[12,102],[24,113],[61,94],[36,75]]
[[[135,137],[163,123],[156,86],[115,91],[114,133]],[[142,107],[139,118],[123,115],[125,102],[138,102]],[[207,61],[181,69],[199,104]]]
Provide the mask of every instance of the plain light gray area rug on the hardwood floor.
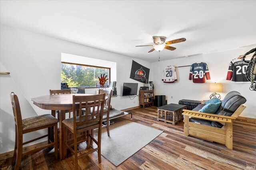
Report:
[[[110,125],[110,137],[106,128],[102,128],[101,154],[115,166],[120,165],[163,132],[120,118],[114,119],[114,122]],[[97,133],[94,133],[95,139]]]

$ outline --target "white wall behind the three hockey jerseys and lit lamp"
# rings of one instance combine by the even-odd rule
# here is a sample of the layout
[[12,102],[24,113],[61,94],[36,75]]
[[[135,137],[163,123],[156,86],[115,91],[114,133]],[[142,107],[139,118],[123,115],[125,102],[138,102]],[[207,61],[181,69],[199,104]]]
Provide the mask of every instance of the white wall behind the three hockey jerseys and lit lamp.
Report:
[[[208,100],[212,93],[209,92],[209,83],[222,83],[223,92],[220,93],[222,99],[230,91],[236,90],[240,92],[247,99],[247,102],[244,104],[246,109],[240,116],[256,118],[256,92],[249,90],[250,83],[234,83],[226,80],[230,61],[239,55],[243,55],[250,49],[252,47],[152,63],[154,67],[150,71],[154,80],[155,95],[166,95],[168,104],[178,103],[182,99]],[[197,84],[193,83],[192,80],[188,80],[190,66],[176,69],[178,72],[178,82],[168,84],[161,81],[162,71],[165,66],[184,66],[200,62],[207,63],[210,70],[211,80],[206,80],[206,83]]]

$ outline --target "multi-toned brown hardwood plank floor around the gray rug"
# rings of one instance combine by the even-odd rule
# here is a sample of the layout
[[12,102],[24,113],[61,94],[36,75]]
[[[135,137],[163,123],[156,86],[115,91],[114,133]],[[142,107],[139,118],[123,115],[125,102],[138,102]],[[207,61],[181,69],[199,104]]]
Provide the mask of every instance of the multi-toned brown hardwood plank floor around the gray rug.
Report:
[[[255,169],[256,168],[256,123],[234,121],[234,147],[211,143],[202,139],[184,136],[183,122],[175,126],[156,121],[156,107],[130,110],[134,122],[163,130],[164,133],[116,167],[102,156],[98,164],[97,152],[78,160],[83,169],[104,170],[167,170],[167,169]],[[130,115],[123,117],[130,120]],[[150,132],[149,132],[150,133]],[[111,131],[110,131],[111,136]],[[82,150],[86,144],[79,145]],[[11,158],[1,160],[2,170],[12,169]],[[44,149],[22,158],[22,170],[73,170],[74,156],[65,160],[55,160],[54,149]]]

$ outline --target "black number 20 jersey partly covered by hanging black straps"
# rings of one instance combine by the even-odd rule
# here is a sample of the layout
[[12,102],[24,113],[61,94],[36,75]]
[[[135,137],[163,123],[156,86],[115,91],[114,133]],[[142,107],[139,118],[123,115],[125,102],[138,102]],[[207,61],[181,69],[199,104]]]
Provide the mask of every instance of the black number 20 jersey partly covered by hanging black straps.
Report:
[[245,70],[247,66],[248,63],[244,63],[242,59],[233,59],[229,63],[226,80],[231,80],[232,82],[248,82],[248,80],[245,77]]

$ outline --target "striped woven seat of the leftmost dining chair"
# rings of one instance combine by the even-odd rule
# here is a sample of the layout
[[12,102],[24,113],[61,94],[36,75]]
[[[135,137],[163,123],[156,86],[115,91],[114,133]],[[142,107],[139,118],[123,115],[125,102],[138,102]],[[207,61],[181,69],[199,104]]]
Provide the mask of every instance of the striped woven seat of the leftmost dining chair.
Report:
[[45,114],[45,115],[39,115],[39,116],[34,116],[34,117],[29,117],[26,119],[22,120],[22,128],[23,131],[28,130],[28,129],[33,129],[36,127],[42,127],[45,125],[50,125],[53,123],[57,123],[58,119],[53,117],[50,114]]

